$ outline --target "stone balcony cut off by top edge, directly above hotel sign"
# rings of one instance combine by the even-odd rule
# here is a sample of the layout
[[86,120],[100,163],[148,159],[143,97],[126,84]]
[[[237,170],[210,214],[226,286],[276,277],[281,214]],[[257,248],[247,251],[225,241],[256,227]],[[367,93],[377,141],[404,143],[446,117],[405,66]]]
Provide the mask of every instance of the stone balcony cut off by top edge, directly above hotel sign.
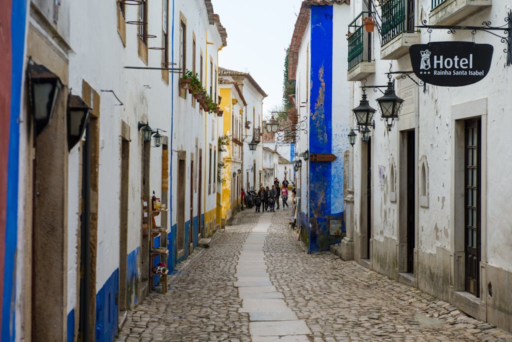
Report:
[[429,24],[457,25],[491,5],[491,0],[432,0]]

